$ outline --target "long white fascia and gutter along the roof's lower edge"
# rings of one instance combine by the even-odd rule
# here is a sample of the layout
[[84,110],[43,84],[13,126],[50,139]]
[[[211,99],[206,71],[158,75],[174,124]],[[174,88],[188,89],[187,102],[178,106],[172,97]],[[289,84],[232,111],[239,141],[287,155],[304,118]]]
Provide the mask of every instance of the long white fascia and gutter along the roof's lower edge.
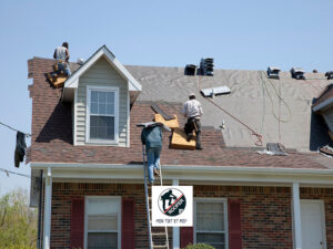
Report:
[[[141,180],[142,165],[120,164],[52,164],[31,163],[32,169],[51,167],[53,179]],[[286,184],[333,186],[333,169],[295,169],[238,166],[179,166],[163,165],[163,179],[200,184]]]

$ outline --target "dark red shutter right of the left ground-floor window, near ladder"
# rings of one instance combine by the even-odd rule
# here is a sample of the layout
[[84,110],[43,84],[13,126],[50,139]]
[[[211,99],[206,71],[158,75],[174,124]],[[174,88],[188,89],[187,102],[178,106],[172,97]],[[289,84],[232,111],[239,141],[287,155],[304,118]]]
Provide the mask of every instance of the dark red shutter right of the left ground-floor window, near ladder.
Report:
[[134,200],[122,200],[121,212],[121,248],[134,249]]

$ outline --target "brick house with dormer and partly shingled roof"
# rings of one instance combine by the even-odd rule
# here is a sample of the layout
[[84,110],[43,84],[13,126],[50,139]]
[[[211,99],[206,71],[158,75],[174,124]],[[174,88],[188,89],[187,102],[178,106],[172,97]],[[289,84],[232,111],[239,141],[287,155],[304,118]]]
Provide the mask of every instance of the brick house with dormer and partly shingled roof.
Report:
[[[199,242],[219,249],[333,248],[333,160],[310,151],[329,137],[320,135],[325,126],[311,115],[313,97],[330,83],[322,74],[305,81],[286,72],[269,81],[264,72],[235,70],[190,76],[181,68],[123,66],[102,46],[83,65],[71,64],[73,74],[59,90],[44,77],[53,63],[28,61],[33,79],[28,159],[32,176],[43,172],[44,249],[103,241],[105,248],[148,248],[135,125],[152,121],[151,104],[158,103],[183,126],[180,110],[191,92],[203,105],[204,149],[171,149],[170,134],[163,136],[164,184],[193,186],[194,195],[194,226],[170,228],[171,248]],[[256,137],[200,95],[199,89],[223,84],[231,94],[214,102],[263,134],[264,143],[284,144],[287,156],[259,154]]]

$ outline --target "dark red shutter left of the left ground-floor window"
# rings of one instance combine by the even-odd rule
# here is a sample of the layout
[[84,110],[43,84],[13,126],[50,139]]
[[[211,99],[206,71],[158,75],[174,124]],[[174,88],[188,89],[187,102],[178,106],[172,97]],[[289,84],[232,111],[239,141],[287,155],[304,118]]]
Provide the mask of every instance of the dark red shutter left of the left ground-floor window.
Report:
[[84,199],[72,199],[70,248],[83,248]]

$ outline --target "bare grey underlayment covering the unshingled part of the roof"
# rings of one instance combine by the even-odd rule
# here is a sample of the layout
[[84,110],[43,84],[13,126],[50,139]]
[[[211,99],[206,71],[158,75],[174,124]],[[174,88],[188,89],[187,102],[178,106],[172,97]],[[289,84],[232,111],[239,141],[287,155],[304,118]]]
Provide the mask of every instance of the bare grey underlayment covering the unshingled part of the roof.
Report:
[[[199,89],[229,86],[230,94],[215,96],[213,101],[262,134],[263,145],[280,142],[287,148],[309,151],[312,101],[330,84],[324,73],[306,73],[303,81],[291,79],[290,72],[281,72],[280,80],[268,80],[265,71],[215,70],[214,76],[200,76],[199,81],[198,75],[184,75],[183,68],[127,69],[144,89],[138,101],[184,103],[189,93],[196,93],[203,106],[202,125],[220,128],[224,120],[222,133],[226,146],[236,147],[253,147],[256,139],[239,122],[204,100]],[[280,103],[279,95],[286,104]]]

